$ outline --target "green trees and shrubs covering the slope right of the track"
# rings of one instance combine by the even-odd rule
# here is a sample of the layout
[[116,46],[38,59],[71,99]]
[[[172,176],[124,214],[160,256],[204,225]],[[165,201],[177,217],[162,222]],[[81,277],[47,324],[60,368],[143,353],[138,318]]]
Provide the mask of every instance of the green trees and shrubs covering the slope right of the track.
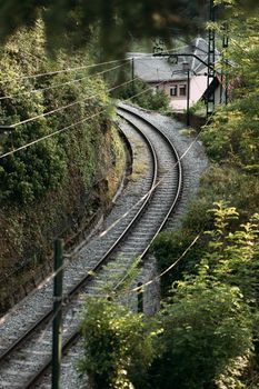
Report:
[[[112,370],[106,370],[110,378],[114,371],[117,375],[123,371],[120,388],[130,388],[129,381],[141,389],[256,389],[259,386],[259,19],[256,10],[251,17],[237,7],[237,1],[227,3],[231,39],[223,58],[229,60],[225,71],[229,78],[230,103],[218,109],[201,131],[210,167],[181,229],[161,233],[153,245],[159,272],[188,247],[190,250],[161,278],[160,312],[145,321],[139,316],[139,329],[142,330],[145,322],[143,337],[151,341],[141,383],[131,376],[127,358],[122,367],[114,363]],[[213,27],[221,33],[220,23]],[[116,312],[121,311],[118,303],[103,303],[107,309],[112,306],[116,319]],[[91,309],[97,311],[99,305],[96,302]],[[102,366],[117,341],[127,339],[131,349],[128,335],[121,339],[121,333],[128,333],[121,317],[116,323],[118,338],[114,332],[109,338],[109,321],[102,327],[102,336],[108,340],[106,348],[99,346],[104,355]],[[87,327],[83,331],[84,370],[89,372],[91,342]],[[135,355],[133,345],[132,341],[129,358],[142,360]]]

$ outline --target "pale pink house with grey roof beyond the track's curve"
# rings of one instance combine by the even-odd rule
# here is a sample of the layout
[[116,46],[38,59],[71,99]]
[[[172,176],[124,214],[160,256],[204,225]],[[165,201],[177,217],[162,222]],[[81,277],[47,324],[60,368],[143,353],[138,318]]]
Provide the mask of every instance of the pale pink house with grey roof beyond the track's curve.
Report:
[[[171,63],[170,57],[152,57],[143,53],[135,53],[135,76],[153,89],[162,89],[170,98],[170,106],[175,110],[187,109],[188,76],[189,76],[189,106],[205,98],[207,90],[207,66],[208,44],[203,38],[196,38],[190,46],[176,49],[178,62]],[[195,54],[202,62],[192,56]],[[219,60],[219,52],[216,52],[216,61]],[[189,70],[186,70],[186,69]],[[216,82],[216,101],[220,98],[219,83]],[[212,87],[212,86],[211,86]]]

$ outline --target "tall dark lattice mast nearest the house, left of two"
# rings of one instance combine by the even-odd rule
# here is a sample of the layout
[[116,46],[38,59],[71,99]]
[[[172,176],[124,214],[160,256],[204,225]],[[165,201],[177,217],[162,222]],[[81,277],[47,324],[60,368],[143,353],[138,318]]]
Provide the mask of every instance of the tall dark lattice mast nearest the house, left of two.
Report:
[[[213,0],[209,0],[209,20],[215,22],[216,12]],[[211,116],[215,111],[215,91],[211,89],[209,92],[210,84],[215,80],[215,30],[209,29],[208,33],[208,76],[207,76],[207,117]]]

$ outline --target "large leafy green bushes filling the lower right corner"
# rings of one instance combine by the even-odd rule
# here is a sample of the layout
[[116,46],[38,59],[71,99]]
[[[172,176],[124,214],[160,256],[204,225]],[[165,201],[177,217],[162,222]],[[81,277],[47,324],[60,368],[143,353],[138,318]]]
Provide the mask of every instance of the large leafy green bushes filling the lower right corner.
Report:
[[[232,231],[239,217],[233,207],[218,202],[210,213],[215,227],[206,232],[197,269],[173,283],[161,312],[162,355],[150,371],[156,388],[246,387],[240,377],[258,339],[258,215]],[[157,252],[171,248],[158,245]]]

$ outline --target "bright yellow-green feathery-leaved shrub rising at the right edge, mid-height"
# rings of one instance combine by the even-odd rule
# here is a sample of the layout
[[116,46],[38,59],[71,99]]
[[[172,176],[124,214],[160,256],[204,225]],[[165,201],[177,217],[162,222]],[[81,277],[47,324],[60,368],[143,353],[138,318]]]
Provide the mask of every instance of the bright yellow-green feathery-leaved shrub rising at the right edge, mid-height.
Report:
[[259,215],[255,213],[247,223],[231,231],[229,223],[238,218],[236,209],[219,202],[212,212],[215,229],[207,231],[211,240],[206,262],[217,280],[238,286],[247,303],[258,307]]

